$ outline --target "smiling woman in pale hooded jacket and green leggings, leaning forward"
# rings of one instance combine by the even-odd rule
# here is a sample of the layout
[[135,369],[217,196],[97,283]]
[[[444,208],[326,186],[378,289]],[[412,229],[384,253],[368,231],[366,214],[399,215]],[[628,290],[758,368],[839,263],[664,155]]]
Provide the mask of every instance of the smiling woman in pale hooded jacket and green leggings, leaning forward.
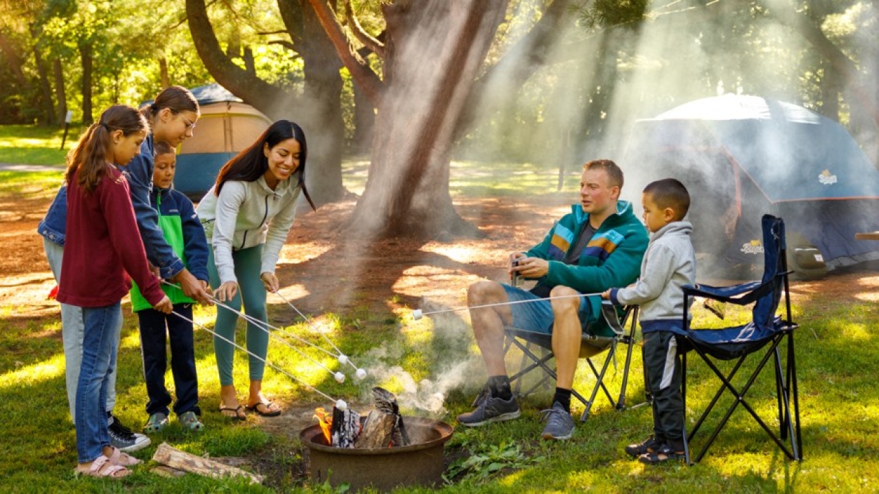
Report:
[[[307,154],[301,127],[278,120],[250,148],[223,165],[196,209],[212,245],[207,268],[214,296],[236,310],[243,301],[244,313],[264,323],[266,290],[278,290],[275,264],[293,225],[300,191],[315,208],[305,189]],[[235,341],[237,319],[235,313],[218,308],[214,331]],[[235,347],[222,338],[214,338],[222,414],[235,419],[245,418],[244,410],[263,417],[280,415],[278,405],[262,392],[269,340],[265,329],[247,323],[251,386],[243,409],[232,380]]]

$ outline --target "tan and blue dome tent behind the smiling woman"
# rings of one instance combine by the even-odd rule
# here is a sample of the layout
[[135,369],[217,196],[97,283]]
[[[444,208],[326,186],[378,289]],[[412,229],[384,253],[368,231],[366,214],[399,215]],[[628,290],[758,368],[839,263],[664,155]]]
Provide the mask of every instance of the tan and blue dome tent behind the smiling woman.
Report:
[[190,91],[201,116],[193,137],[180,145],[174,188],[197,201],[214,185],[222,165],[255,142],[272,120],[220,84]]

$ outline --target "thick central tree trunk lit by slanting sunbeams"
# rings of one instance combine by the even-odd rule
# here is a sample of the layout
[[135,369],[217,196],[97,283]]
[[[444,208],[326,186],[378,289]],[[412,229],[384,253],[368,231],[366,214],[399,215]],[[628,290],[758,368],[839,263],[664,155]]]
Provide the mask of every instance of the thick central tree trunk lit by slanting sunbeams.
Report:
[[346,223],[371,236],[477,235],[454,211],[449,151],[505,0],[385,5],[386,90],[367,188]]

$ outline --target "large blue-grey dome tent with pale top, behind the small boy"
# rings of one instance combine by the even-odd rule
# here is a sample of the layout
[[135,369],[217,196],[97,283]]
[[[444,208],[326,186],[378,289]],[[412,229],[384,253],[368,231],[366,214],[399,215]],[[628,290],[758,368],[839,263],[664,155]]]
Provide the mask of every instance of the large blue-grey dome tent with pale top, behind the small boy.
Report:
[[[802,106],[724,95],[638,120],[625,163],[633,187],[678,178],[692,196],[694,246],[712,268],[762,259],[759,219],[784,218],[788,255],[801,277],[879,258],[879,171],[839,123]],[[641,190],[640,188],[636,190]],[[816,250],[817,249],[817,250]]]

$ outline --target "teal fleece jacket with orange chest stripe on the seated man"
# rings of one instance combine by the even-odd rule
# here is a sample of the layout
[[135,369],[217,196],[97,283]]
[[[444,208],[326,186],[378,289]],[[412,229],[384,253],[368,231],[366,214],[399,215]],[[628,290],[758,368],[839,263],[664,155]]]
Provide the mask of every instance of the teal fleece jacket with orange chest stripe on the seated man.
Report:
[[[643,224],[632,212],[632,205],[625,200],[617,201],[616,213],[601,223],[580,253],[577,265],[564,264],[565,254],[573,249],[589,214],[579,204],[571,206],[570,214],[565,214],[556,222],[541,243],[525,255],[531,258],[547,259],[549,271],[538,282],[546,287],[570,287],[581,294],[597,294],[613,287],[627,287],[638,279],[641,261],[650,238]],[[602,336],[613,334],[599,317],[601,299],[598,296],[587,299],[592,305],[592,333]]]

